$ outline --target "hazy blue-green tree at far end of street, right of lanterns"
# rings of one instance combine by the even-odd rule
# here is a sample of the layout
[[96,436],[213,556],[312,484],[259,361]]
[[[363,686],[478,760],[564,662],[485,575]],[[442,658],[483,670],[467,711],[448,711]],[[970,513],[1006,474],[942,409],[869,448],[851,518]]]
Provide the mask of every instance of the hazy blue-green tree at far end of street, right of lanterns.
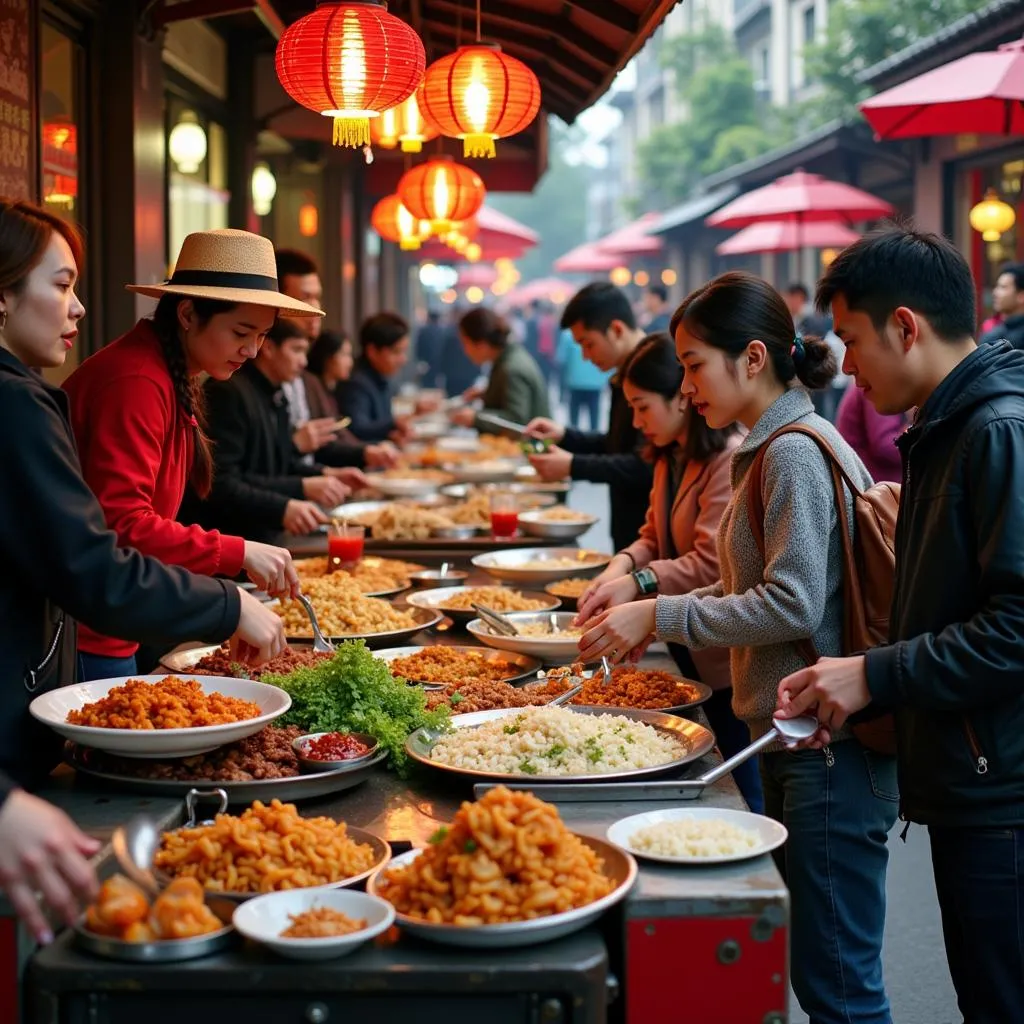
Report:
[[549,119],[548,169],[531,193],[493,193],[487,205],[515,217],[541,237],[516,267],[523,281],[540,278],[551,264],[586,238],[587,168],[569,162],[580,130]]

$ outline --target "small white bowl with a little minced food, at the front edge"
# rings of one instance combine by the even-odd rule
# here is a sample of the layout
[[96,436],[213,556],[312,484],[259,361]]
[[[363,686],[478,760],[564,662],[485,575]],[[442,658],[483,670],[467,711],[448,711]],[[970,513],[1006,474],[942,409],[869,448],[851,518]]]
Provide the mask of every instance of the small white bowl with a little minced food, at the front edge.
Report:
[[[281,933],[292,924],[293,914],[313,907],[330,907],[367,927],[350,935],[324,939],[285,939]],[[394,924],[394,907],[379,896],[350,889],[289,889],[267,893],[239,905],[232,924],[253,942],[290,959],[333,959],[354,952],[364,943],[386,932]]]

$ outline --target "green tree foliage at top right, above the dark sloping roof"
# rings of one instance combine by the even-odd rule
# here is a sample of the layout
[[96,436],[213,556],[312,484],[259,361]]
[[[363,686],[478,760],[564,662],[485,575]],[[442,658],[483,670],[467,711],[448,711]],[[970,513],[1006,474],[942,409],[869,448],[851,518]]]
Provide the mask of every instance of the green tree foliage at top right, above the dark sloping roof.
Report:
[[839,0],[829,6],[823,37],[805,53],[808,77],[821,95],[806,104],[812,122],[859,117],[857,103],[871,89],[857,82],[862,71],[898,53],[989,0]]

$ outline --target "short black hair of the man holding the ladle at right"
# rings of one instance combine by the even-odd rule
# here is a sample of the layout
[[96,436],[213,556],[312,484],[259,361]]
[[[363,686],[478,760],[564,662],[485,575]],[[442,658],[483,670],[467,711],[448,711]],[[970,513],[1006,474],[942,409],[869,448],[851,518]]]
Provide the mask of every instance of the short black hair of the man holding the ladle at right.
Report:
[[887,224],[847,246],[818,282],[824,312],[842,295],[876,330],[899,306],[924,316],[943,341],[963,341],[977,327],[974,279],[963,254],[940,234]]

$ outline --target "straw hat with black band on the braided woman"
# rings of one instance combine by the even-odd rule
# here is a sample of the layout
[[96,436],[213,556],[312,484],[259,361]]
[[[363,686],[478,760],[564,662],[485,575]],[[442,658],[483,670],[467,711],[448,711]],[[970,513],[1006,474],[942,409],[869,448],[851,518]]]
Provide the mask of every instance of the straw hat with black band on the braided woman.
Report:
[[232,227],[189,234],[181,244],[174,272],[164,284],[125,287],[155,299],[180,295],[270,306],[286,316],[324,315],[323,309],[282,294],[269,239]]

